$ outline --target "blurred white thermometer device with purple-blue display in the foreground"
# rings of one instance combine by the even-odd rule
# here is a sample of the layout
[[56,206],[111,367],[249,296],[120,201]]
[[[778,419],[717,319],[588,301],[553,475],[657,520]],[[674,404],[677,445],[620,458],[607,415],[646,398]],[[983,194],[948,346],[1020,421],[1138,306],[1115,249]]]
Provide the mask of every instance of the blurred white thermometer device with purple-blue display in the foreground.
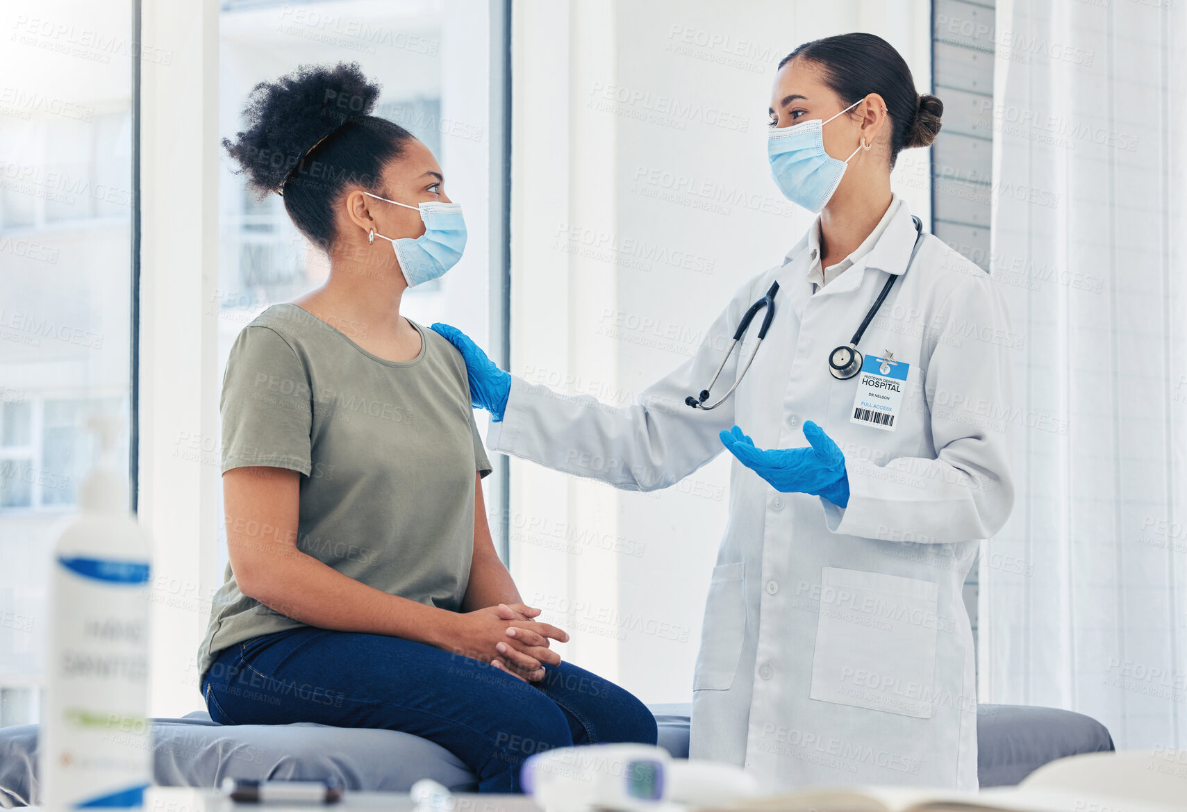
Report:
[[538,753],[523,763],[525,792],[545,812],[656,812],[723,805],[760,794],[732,765],[673,759],[662,747],[585,744]]

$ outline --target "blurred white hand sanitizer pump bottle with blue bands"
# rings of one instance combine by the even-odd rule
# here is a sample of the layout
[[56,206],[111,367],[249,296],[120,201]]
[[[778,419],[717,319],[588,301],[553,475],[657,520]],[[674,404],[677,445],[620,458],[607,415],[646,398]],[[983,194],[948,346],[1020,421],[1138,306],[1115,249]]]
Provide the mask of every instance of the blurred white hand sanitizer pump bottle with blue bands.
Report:
[[115,465],[121,421],[95,417],[99,465],[80,487],[82,512],[53,548],[40,805],[142,806],[152,781],[148,690],[150,546],[128,512]]

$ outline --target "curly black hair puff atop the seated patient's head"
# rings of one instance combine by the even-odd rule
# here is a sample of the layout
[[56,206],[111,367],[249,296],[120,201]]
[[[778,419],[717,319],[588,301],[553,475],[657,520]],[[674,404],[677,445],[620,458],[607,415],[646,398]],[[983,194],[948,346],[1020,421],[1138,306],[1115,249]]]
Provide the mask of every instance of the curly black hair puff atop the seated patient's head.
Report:
[[247,129],[222,145],[249,188],[261,195],[273,191],[318,141],[348,119],[368,115],[380,90],[357,62],[300,65],[252,88],[243,110]]

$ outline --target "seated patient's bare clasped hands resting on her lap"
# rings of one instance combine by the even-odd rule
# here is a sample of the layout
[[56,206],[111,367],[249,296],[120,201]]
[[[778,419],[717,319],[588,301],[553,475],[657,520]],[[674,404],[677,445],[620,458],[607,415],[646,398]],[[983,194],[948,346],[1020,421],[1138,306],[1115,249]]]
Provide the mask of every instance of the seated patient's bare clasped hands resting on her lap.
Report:
[[489,662],[526,683],[544,679],[544,666],[560,665],[548,640],[569,642],[569,633],[533,620],[540,610],[523,603],[500,603],[458,615],[455,653]]

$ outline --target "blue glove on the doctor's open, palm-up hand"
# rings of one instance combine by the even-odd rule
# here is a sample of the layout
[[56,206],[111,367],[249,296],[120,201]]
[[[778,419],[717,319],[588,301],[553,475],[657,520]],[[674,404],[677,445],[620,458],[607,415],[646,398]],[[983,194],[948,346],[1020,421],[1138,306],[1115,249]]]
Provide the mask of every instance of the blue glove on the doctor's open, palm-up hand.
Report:
[[824,496],[837,507],[848,506],[849,474],[845,472],[845,455],[824,433],[824,429],[811,420],[804,423],[804,436],[812,444],[808,448],[764,451],[755,446],[737,426],[721,432],[722,444],[730,453],[769,482],[775,490]]

